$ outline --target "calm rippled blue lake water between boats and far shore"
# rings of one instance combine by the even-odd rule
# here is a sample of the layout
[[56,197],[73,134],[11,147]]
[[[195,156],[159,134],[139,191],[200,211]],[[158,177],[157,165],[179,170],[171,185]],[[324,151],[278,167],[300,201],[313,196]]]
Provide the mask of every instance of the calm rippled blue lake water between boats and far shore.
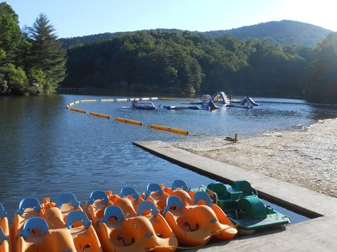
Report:
[[[11,218],[23,197],[55,197],[73,192],[80,201],[92,190],[113,190],[132,185],[139,192],[149,182],[171,185],[182,178],[191,187],[213,182],[208,177],[157,158],[132,141],[194,141],[205,136],[252,136],[265,131],[291,130],[313,124],[313,116],[336,114],[337,109],[312,106],[300,100],[264,99],[257,109],[223,108],[217,111],[138,111],[121,109],[129,102],[80,103],[75,107],[110,116],[183,128],[192,136],[151,130],[79,114],[65,105],[80,99],[116,97],[54,95],[0,97],[0,202]],[[259,98],[257,98],[259,100]],[[260,99],[262,100],[262,99]],[[159,104],[182,104],[155,101]],[[294,111],[294,115],[292,115]],[[196,135],[196,136],[193,136]]]

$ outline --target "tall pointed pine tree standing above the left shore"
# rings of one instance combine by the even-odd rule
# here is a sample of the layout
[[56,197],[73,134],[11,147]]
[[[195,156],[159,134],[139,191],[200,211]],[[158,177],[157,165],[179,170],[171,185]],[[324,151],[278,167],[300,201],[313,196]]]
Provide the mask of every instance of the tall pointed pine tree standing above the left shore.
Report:
[[45,14],[41,13],[33,27],[28,28],[28,38],[31,43],[30,67],[40,69],[46,75],[44,93],[55,92],[65,78],[65,50],[57,41],[55,28]]

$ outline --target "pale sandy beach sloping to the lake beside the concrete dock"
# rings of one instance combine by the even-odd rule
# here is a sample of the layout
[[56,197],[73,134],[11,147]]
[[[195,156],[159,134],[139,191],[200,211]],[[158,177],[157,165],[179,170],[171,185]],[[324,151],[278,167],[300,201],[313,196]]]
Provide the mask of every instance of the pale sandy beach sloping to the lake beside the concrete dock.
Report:
[[[337,197],[337,119],[299,131],[174,143],[184,150]],[[242,179],[245,179],[242,177]]]

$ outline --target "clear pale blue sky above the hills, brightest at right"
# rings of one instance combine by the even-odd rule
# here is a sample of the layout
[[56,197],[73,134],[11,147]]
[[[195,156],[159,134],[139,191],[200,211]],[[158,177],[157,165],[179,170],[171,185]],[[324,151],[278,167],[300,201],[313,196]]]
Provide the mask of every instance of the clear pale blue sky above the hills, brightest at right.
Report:
[[[3,2],[3,0],[0,0]],[[336,0],[7,0],[20,26],[48,16],[58,37],[177,28],[216,31],[284,19],[337,31]]]

